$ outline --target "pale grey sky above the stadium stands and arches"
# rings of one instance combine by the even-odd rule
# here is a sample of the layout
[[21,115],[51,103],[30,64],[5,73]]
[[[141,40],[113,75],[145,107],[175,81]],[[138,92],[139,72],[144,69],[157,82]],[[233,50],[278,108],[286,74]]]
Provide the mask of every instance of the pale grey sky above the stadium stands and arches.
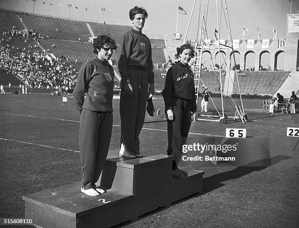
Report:
[[[143,32],[147,35],[165,37],[176,32],[177,5],[187,15],[178,15],[178,32],[185,34],[190,19],[194,0],[0,0],[0,8],[25,11],[54,17],[79,19],[131,25],[128,12],[134,6],[147,9],[149,18]],[[191,26],[187,38],[194,40],[196,34],[196,17],[198,5],[196,0]],[[44,2],[44,3],[43,3]],[[213,39],[216,23],[216,0],[209,0],[207,16],[208,39]],[[285,38],[287,14],[290,13],[289,0],[227,0],[229,21],[233,39],[242,38],[242,27],[246,31],[246,39],[257,39],[257,27],[260,28],[261,39],[272,39],[273,28],[277,29],[277,38]],[[71,7],[68,7],[71,4]],[[218,0],[220,39],[228,39],[227,24],[220,10],[224,0]],[[75,8],[77,7],[77,8]],[[86,10],[87,9],[87,10]],[[102,9],[105,9],[103,12]],[[104,13],[104,15],[103,15]],[[292,0],[292,13],[299,13],[299,0]],[[104,18],[103,18],[104,16]],[[104,19],[104,20],[103,20]],[[210,34],[210,35],[209,35]],[[221,37],[223,36],[223,37]]]

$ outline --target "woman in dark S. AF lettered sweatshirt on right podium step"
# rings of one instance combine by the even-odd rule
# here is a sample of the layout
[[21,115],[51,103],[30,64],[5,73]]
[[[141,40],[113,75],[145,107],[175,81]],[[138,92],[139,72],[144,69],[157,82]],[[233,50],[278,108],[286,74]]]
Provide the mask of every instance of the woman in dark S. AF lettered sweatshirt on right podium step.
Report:
[[188,65],[194,57],[194,51],[189,43],[183,44],[176,50],[181,59],[167,71],[162,96],[167,118],[167,154],[174,156],[172,176],[185,178],[188,173],[180,170],[178,164],[182,156],[182,147],[187,142],[191,118],[196,121],[194,76]]

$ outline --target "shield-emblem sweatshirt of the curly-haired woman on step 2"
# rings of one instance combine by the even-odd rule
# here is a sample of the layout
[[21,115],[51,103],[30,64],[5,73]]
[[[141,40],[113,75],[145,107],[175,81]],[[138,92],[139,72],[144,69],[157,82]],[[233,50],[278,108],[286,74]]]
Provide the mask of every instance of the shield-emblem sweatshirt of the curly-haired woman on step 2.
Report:
[[[73,92],[76,108],[94,112],[112,112],[114,71],[108,62],[98,58],[84,63]],[[84,100],[84,94],[86,98]]]

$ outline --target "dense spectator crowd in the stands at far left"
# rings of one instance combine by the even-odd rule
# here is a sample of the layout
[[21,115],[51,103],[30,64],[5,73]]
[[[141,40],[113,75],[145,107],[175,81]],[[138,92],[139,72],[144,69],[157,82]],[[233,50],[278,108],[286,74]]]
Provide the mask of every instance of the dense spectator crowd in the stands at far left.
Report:
[[26,48],[0,45],[0,69],[17,76],[32,88],[62,86],[68,90],[76,81],[76,69],[63,59],[48,56],[45,52],[30,53]]

